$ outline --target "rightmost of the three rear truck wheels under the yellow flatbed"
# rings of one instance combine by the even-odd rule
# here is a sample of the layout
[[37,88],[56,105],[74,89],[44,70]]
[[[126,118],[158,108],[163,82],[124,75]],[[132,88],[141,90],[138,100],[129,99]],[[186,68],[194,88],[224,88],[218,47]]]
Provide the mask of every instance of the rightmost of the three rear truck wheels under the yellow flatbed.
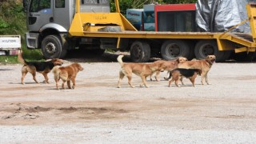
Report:
[[216,62],[225,61],[225,51],[218,50],[218,44],[214,40],[201,40],[199,41],[195,48],[194,54],[198,59],[204,59],[207,55],[215,55]]

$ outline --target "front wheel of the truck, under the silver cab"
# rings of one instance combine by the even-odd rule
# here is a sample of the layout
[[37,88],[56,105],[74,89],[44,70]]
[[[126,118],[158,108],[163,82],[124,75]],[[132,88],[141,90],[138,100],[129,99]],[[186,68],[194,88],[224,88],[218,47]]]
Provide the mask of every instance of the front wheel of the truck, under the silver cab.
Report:
[[42,40],[42,54],[46,59],[64,58],[66,50],[62,48],[62,42],[56,35],[48,35]]

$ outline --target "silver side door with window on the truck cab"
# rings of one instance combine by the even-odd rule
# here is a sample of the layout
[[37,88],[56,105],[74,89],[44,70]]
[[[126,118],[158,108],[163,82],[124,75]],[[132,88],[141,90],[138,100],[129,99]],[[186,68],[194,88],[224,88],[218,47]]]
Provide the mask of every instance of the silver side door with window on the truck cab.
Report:
[[74,16],[74,1],[54,0],[54,23],[70,29],[70,24]]

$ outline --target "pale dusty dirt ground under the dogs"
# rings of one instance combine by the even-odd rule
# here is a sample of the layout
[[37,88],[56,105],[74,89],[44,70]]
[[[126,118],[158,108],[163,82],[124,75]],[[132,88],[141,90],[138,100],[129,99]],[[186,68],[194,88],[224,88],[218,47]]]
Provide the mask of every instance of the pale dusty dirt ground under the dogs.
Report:
[[168,87],[163,72],[117,88],[116,58],[69,58],[84,67],[74,90],[56,90],[52,73],[22,85],[21,64],[0,66],[0,143],[255,143],[255,62],[214,63],[208,86]]

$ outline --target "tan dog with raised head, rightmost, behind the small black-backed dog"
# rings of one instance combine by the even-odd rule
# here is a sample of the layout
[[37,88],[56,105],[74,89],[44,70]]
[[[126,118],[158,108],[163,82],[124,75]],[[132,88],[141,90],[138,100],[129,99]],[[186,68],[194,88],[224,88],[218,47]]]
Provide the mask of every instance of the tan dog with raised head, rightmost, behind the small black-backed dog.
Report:
[[185,68],[185,69],[199,69],[202,70],[201,74],[201,82],[202,85],[204,85],[204,80],[208,85],[210,83],[208,82],[208,72],[213,66],[214,62],[216,60],[216,57],[214,55],[208,55],[206,59],[198,60],[198,61],[187,61],[187,62],[182,62],[178,64],[178,68]]

